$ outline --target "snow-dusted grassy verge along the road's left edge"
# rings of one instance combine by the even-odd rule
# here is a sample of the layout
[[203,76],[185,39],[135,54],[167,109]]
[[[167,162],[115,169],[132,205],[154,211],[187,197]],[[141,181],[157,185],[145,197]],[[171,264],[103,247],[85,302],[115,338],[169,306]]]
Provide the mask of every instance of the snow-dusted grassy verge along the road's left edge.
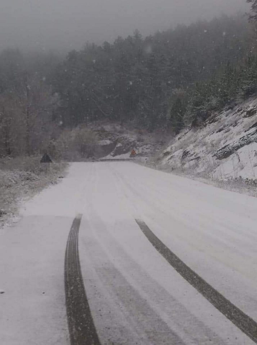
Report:
[[40,164],[40,157],[0,160],[0,227],[17,213],[19,203],[57,183],[67,164]]

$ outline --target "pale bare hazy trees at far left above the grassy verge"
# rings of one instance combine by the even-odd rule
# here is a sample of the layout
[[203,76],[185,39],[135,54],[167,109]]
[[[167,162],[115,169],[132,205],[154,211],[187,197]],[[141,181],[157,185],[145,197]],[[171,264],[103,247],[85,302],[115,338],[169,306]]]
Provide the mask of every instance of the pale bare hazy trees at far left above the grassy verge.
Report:
[[60,106],[49,76],[60,62],[52,54],[0,55],[0,156],[30,155],[48,145]]

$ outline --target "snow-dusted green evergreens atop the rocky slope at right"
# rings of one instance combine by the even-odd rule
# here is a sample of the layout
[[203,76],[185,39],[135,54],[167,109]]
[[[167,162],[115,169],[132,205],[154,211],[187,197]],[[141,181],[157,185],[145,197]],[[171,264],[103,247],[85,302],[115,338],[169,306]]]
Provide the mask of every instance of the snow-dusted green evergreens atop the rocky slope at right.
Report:
[[187,105],[180,115],[178,108],[174,111],[171,109],[170,121],[176,130],[184,125],[199,126],[213,111],[218,111],[225,105],[233,107],[256,91],[257,56],[250,54],[236,65],[228,62],[209,81],[196,83],[190,95],[186,95]]

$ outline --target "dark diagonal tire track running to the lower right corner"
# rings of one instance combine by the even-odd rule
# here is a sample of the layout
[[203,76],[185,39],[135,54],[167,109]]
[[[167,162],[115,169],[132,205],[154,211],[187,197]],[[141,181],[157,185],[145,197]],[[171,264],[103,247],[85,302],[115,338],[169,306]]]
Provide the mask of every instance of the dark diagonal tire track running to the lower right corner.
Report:
[[215,288],[208,284],[196,272],[188,267],[180,258],[171,252],[161,240],[154,235],[149,227],[140,219],[135,219],[144,235],[156,250],[168,261],[168,263],[191,284],[203,297],[215,308],[225,315],[234,325],[244,332],[257,344],[257,323],[238,307],[222,296]]

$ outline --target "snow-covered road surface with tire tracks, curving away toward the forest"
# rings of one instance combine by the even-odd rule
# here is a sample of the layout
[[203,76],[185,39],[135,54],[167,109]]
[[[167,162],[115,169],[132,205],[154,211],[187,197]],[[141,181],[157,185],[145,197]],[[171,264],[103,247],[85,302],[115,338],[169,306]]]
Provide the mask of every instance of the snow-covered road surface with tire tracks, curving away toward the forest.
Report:
[[257,343],[257,198],[73,163],[21,215],[0,230],[0,344]]

